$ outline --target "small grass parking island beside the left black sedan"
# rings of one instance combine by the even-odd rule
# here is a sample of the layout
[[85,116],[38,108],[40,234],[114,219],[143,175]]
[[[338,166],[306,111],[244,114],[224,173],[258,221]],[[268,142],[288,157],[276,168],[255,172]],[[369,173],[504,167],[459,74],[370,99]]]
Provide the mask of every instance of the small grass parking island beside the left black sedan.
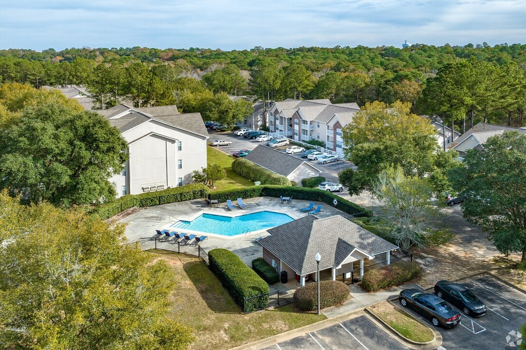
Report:
[[433,332],[428,326],[413,319],[406,312],[398,310],[387,301],[371,305],[368,309],[398,333],[412,341],[424,343],[433,340]]

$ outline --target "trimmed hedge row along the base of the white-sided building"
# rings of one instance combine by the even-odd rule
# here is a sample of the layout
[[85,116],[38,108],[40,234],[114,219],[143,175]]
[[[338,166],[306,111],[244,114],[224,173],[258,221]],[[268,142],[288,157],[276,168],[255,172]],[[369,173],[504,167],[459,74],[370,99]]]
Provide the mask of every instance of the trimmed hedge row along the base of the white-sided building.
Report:
[[141,193],[140,195],[126,195],[110,203],[97,206],[90,214],[105,220],[131,207],[151,207],[183,200],[206,198],[208,192],[208,186],[204,184],[190,184],[155,192]]

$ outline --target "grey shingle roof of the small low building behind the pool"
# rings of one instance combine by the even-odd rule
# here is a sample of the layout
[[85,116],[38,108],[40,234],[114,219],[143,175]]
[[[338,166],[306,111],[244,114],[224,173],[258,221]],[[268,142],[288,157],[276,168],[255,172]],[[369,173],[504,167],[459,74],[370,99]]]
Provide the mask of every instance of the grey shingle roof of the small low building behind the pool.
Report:
[[283,176],[288,176],[304,163],[306,166],[311,167],[313,171],[315,169],[319,171],[319,169],[303,160],[263,145],[258,145],[245,159]]

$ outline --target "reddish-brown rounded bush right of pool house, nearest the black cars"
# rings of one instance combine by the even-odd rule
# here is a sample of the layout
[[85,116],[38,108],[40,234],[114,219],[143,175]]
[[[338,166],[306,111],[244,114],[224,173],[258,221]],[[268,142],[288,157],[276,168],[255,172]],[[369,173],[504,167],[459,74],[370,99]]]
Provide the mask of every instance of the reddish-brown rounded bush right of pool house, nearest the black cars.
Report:
[[367,292],[397,287],[418,279],[421,273],[420,266],[414,262],[395,262],[379,269],[367,271],[363,274],[361,287]]

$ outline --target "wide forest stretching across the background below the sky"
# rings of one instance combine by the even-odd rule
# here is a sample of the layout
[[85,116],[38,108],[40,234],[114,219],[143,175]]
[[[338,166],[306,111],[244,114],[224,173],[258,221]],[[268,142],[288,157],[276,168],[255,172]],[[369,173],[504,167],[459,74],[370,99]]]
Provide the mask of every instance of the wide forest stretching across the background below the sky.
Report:
[[[177,104],[181,112],[237,119],[252,100],[333,103],[397,100],[438,115],[457,131],[485,121],[524,125],[526,45],[220,49],[71,48],[0,50],[0,83],[80,84],[109,108]],[[211,106],[218,106],[220,108]]]

